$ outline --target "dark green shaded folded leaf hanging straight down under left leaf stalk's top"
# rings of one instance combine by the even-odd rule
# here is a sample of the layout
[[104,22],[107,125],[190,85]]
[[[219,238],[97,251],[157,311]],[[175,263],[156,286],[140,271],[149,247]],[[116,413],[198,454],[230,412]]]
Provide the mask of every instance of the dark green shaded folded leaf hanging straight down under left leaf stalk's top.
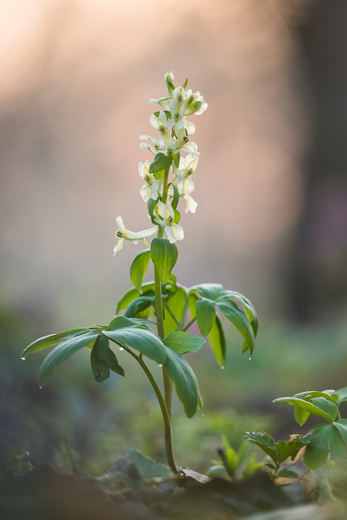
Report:
[[101,383],[109,378],[110,370],[124,376],[124,370],[119,365],[117,357],[109,347],[109,341],[104,334],[97,337],[91,352],[91,365],[95,381]]

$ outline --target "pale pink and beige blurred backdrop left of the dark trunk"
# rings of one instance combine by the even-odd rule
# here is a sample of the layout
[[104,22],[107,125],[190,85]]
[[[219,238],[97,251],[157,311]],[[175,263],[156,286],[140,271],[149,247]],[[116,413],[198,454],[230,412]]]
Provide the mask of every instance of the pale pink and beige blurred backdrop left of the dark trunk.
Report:
[[221,282],[261,317],[282,316],[310,144],[294,30],[306,6],[1,0],[2,304],[57,329],[112,318],[139,251],[127,242],[113,258],[115,219],[149,226],[139,135],[155,135],[148,100],[166,95],[172,70],[209,103],[190,118],[198,208],[182,213],[178,280]]

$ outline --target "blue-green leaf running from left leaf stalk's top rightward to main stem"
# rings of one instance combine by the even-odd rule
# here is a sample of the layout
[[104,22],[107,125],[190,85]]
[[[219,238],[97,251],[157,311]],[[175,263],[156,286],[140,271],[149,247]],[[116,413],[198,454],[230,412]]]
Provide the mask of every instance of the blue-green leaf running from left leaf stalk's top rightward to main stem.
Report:
[[106,337],[121,346],[128,345],[135,348],[150,359],[155,360],[158,364],[164,365],[167,355],[166,348],[159,337],[152,331],[142,327],[126,327],[124,329],[115,329],[104,331]]

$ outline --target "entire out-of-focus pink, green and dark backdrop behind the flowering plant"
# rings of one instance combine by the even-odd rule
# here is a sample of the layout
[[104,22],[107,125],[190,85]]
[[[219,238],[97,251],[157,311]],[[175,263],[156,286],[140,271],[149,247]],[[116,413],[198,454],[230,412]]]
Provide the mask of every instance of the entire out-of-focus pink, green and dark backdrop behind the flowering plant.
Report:
[[[252,361],[227,326],[223,372],[191,356],[205,415],[176,403],[177,460],[205,471],[219,436],[305,433],[272,399],[346,386],[345,0],[0,0],[0,459],[65,467],[64,435],[100,472],[128,447],[163,460],[161,419],[132,360],[98,385],[88,353],[43,390],[37,337],[108,323],[139,247],[113,257],[115,219],[148,227],[139,135],[163,77],[200,90],[194,215],[178,281],[220,282],[255,305]],[[155,106],[154,106],[155,107]],[[149,277],[151,278],[151,276]],[[123,360],[124,357],[124,360]],[[121,380],[122,379],[122,380]],[[155,434],[153,434],[155,432]]]

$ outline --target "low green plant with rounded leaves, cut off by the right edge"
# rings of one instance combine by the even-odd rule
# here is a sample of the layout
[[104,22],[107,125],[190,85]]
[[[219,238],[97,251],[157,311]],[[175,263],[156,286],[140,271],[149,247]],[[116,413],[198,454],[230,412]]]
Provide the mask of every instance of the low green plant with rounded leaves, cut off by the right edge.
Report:
[[[294,417],[303,425],[309,415],[317,415],[327,423],[317,424],[307,433],[314,434],[313,440],[306,447],[304,463],[310,470],[317,470],[326,462],[329,451],[338,461],[346,460],[347,419],[341,419],[339,407],[347,401],[347,386],[340,390],[324,392],[301,392],[293,397],[280,397],[274,402],[285,401],[294,405]],[[335,419],[338,417],[338,420]]]

